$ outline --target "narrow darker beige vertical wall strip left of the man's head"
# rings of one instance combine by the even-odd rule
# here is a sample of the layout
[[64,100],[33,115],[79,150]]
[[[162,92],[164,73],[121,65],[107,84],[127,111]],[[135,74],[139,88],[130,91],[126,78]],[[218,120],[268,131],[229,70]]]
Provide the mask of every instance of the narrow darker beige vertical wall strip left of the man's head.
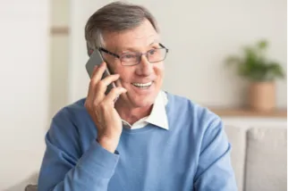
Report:
[[52,0],[49,118],[68,104],[69,9],[69,0]]

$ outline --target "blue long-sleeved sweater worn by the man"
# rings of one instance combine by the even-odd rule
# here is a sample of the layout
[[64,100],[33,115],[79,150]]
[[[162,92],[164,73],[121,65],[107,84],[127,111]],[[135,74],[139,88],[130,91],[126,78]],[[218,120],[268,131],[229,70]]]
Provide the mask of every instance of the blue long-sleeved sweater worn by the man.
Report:
[[167,94],[169,130],[123,129],[114,154],[96,141],[84,99],[57,112],[47,132],[39,191],[237,190],[222,121]]

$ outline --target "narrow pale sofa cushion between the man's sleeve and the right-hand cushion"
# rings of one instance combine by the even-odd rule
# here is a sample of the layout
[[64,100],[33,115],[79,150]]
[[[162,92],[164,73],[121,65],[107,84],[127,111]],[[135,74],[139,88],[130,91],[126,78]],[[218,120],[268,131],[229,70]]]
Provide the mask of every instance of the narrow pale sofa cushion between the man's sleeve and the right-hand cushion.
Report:
[[225,126],[225,132],[232,145],[231,161],[239,191],[243,190],[246,153],[246,129],[241,127]]

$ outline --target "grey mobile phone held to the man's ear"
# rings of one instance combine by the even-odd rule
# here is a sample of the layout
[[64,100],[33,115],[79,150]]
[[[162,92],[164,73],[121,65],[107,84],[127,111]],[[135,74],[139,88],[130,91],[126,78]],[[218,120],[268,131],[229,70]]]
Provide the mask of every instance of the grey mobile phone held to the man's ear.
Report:
[[[100,65],[102,62],[105,62],[101,53],[98,50],[94,50],[92,54],[90,54],[89,60],[86,63],[86,71],[89,74],[89,78],[92,78],[92,74],[94,71],[94,68],[96,65]],[[109,76],[111,74],[111,72],[108,69],[108,64],[106,64],[106,71],[104,71],[102,79],[105,79],[107,76]],[[106,89],[106,95],[110,92],[110,90],[112,88],[116,87],[114,82],[112,82],[111,84],[108,85],[107,89]]]

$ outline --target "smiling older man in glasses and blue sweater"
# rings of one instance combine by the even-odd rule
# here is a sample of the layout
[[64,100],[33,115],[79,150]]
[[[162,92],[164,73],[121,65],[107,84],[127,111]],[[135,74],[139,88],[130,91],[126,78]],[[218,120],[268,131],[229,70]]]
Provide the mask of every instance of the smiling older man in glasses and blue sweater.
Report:
[[[99,50],[106,62],[87,97],[53,118],[38,190],[237,190],[222,121],[161,90],[168,49],[152,14],[114,2],[89,18],[85,33],[88,54]],[[112,74],[102,79],[106,67]]]

